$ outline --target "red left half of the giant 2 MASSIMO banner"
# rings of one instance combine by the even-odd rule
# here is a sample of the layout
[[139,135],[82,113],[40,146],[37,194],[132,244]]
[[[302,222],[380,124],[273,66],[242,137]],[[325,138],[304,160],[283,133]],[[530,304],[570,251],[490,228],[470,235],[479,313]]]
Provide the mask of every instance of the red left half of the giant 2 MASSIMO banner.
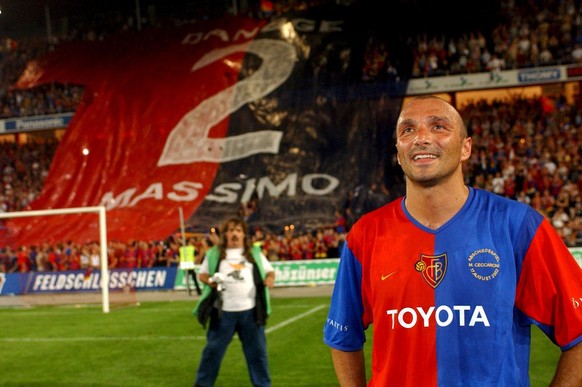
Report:
[[[230,113],[245,98],[269,92],[260,81],[246,89],[237,82],[245,54],[261,54],[252,44],[260,27],[253,19],[224,18],[63,44],[30,63],[16,87],[85,86],[32,209],[103,204],[109,239],[163,239],[174,232],[179,208],[186,217],[196,210],[221,161],[241,151],[269,151],[244,146],[244,138],[236,142],[246,149],[237,150],[225,138]],[[278,55],[287,57],[279,60],[288,60],[289,50],[283,51]],[[8,229],[21,244],[82,242],[98,239],[97,221],[92,214],[22,218]]]

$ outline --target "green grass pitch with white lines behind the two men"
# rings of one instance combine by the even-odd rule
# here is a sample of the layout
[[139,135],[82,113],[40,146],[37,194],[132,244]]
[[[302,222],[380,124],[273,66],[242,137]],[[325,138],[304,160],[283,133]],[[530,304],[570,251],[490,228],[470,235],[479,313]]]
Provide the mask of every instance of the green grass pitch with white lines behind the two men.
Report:
[[[267,325],[273,386],[337,386],[322,330],[329,297],[274,298]],[[194,301],[0,309],[0,386],[192,386],[204,330]],[[533,329],[532,386],[547,386],[559,349]],[[370,359],[370,345],[366,345]],[[216,386],[249,386],[239,342]]]

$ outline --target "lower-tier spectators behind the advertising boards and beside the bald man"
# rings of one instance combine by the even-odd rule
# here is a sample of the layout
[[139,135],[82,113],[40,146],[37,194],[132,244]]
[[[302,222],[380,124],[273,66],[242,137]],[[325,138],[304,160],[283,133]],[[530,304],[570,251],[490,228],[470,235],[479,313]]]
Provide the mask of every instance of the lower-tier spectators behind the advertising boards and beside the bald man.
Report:
[[[557,98],[476,101],[461,109],[471,135],[479,144],[466,165],[467,184],[531,205],[546,216],[566,245],[582,245],[582,110]],[[56,143],[2,146],[4,211],[20,210],[40,192]],[[310,232],[292,227],[281,233],[254,229],[270,260],[335,258],[351,221],[346,209],[336,211],[334,223]],[[241,216],[247,217],[247,211]],[[213,235],[195,235],[187,243],[200,260]],[[111,241],[111,268],[176,266],[181,237],[164,241]],[[92,258],[93,257],[93,258]],[[74,270],[99,266],[99,245],[5,247],[3,272]]]

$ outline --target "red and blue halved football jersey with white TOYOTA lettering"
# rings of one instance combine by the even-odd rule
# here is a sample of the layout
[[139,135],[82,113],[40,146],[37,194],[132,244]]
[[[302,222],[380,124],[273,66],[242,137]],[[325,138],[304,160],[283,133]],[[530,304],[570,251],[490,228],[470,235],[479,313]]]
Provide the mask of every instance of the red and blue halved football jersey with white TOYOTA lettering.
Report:
[[370,324],[370,386],[527,386],[531,324],[582,342],[582,269],[530,206],[471,188],[433,230],[400,198],[350,230],[324,342],[360,350]]

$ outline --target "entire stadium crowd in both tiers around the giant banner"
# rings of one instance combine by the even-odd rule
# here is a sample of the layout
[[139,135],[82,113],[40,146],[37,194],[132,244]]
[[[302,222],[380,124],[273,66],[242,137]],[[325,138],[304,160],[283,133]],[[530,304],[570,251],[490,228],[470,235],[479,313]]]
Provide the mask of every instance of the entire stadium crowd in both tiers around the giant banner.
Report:
[[[282,2],[287,7],[309,6],[305,2]],[[314,2],[319,4],[321,2]],[[500,18],[491,33],[467,32],[458,36],[418,34],[414,42],[413,76],[425,77],[471,72],[491,72],[550,64],[582,63],[582,5],[580,1],[552,2],[554,7],[534,7],[542,2],[503,7],[511,18]],[[519,5],[519,6],[518,6]],[[256,11],[256,9],[254,10]],[[274,17],[286,9],[259,9],[253,15]],[[240,12],[248,12],[241,10]],[[260,13],[262,12],[262,13]],[[103,15],[101,15],[103,16]],[[178,23],[179,21],[174,21]],[[183,22],[183,21],[182,21]],[[109,15],[91,23],[72,26],[67,34],[49,42],[43,39],[4,37],[0,45],[1,118],[45,115],[74,111],[83,88],[51,84],[31,90],[11,90],[25,64],[64,40],[96,40],[118,31],[154,27],[144,18]],[[381,38],[370,37],[362,78],[395,77],[395,58],[390,57]],[[578,103],[580,103],[580,96]],[[523,201],[544,214],[568,246],[582,245],[582,108],[563,96],[515,98],[511,101],[475,101],[461,114],[479,144],[466,165],[467,184]],[[57,140],[0,144],[0,211],[26,209],[38,195],[48,173]],[[250,212],[243,212],[249,216]],[[270,260],[335,258],[345,232],[353,222],[350,209],[338,209],[335,223],[299,233],[292,228],[281,233],[255,229]],[[195,245],[197,259],[213,243],[212,235],[188,239]],[[179,263],[179,236],[165,241],[110,241],[111,268],[175,266]],[[91,270],[99,266],[96,243],[74,245],[40,244],[6,246],[0,251],[0,271]]]

